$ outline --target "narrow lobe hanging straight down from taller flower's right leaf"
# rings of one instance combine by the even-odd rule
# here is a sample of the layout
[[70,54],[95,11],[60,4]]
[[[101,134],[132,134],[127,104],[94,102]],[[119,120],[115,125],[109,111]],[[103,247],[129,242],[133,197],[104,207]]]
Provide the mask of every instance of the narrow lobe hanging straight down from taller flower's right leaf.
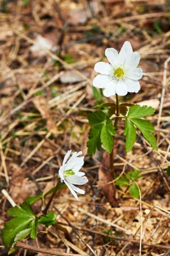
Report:
[[129,120],[127,117],[125,118],[125,131],[124,131],[125,137],[125,149],[126,152],[131,151],[134,142],[136,141],[136,129],[134,125],[132,124],[131,120]]

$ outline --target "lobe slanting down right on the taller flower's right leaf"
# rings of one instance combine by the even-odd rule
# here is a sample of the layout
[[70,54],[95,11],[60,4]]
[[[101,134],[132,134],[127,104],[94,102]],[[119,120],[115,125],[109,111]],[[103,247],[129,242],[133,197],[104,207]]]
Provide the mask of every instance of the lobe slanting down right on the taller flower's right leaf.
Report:
[[147,141],[149,141],[150,145],[157,150],[157,143],[155,136],[151,132],[155,131],[154,127],[150,122],[143,120],[143,119],[138,119],[138,118],[131,118],[132,122],[138,127],[138,129],[142,132],[143,136]]

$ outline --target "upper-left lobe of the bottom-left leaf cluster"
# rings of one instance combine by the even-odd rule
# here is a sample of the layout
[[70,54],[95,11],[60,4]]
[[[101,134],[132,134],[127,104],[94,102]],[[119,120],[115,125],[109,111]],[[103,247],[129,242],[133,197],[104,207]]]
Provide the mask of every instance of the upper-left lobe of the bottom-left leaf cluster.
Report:
[[8,214],[13,217],[34,218],[34,212],[32,211],[31,205],[29,205],[27,202],[20,204],[20,208],[18,206],[10,208],[8,210]]

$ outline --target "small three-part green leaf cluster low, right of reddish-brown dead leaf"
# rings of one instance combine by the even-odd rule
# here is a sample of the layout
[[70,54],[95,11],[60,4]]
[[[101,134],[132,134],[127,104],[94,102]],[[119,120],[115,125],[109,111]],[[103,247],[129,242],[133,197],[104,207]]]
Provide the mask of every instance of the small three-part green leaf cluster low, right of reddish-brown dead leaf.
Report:
[[135,198],[139,197],[139,189],[136,183],[133,180],[138,180],[141,177],[139,170],[134,170],[133,172],[127,172],[123,174],[118,180],[115,181],[115,184],[120,187],[129,186],[129,193]]

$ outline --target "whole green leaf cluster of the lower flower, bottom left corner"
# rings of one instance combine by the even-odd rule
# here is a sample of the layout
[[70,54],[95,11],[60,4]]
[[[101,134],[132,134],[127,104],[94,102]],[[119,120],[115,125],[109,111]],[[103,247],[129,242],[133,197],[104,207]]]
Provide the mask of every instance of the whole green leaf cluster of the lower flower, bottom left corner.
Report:
[[48,214],[39,216],[39,218],[34,214],[31,204],[42,199],[42,196],[43,193],[40,193],[38,196],[31,196],[23,204],[20,204],[20,207],[15,206],[8,210],[8,214],[13,218],[4,224],[2,230],[4,246],[11,246],[8,254],[17,250],[15,246],[17,241],[23,240],[26,237],[36,239],[38,224],[49,226],[56,222],[57,216],[53,212],[48,212]]

